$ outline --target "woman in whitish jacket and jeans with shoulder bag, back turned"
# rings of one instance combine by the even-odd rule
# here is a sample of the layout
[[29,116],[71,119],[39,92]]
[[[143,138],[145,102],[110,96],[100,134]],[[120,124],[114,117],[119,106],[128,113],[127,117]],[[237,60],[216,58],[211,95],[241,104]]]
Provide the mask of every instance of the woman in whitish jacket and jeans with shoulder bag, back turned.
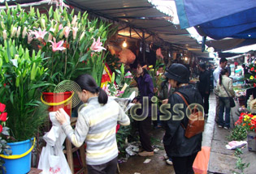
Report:
[[[219,74],[219,80],[215,89],[216,94],[219,96],[219,128],[230,128],[230,102],[229,96],[234,97],[235,91],[232,86],[232,79],[228,78],[228,69],[223,69]],[[228,93],[227,93],[228,92]],[[225,112],[225,121],[223,121],[223,112]]]

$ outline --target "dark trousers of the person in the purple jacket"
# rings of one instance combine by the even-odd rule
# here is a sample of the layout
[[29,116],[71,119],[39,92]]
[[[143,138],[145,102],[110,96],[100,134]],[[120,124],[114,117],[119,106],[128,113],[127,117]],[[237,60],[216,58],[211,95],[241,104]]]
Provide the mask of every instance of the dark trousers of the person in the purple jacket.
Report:
[[143,121],[138,121],[141,146],[145,151],[153,151],[150,142],[151,117],[146,117]]

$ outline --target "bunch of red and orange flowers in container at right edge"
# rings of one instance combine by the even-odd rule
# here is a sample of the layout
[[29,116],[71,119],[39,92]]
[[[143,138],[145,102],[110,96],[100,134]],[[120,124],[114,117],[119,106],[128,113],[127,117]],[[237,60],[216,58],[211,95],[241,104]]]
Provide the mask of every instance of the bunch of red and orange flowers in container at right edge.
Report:
[[256,151],[256,115],[242,112],[235,125],[247,130],[248,150]]

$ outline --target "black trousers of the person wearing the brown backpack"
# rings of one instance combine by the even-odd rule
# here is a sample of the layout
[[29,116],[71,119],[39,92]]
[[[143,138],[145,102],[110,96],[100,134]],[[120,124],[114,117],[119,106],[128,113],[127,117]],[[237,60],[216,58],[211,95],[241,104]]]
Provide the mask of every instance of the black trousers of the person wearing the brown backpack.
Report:
[[176,174],[193,174],[193,161],[197,153],[184,157],[171,157],[173,168]]

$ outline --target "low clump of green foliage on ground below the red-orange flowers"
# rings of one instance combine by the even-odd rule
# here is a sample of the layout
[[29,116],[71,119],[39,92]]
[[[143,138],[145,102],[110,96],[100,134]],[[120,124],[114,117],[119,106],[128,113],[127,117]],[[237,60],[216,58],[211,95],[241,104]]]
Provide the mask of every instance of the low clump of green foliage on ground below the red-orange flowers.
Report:
[[242,141],[247,138],[247,131],[245,127],[241,125],[236,125],[232,129],[231,134],[228,136],[228,141]]

